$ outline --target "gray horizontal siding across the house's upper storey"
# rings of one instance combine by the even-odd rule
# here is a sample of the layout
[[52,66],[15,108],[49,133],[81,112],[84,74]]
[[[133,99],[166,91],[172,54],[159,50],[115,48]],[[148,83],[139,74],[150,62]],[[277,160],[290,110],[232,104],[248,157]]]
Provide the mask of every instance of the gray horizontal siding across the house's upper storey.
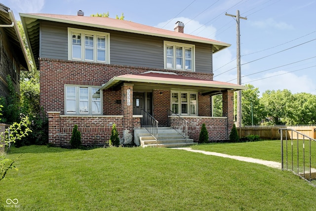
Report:
[[[42,22],[40,25],[40,57],[68,59],[67,25]],[[71,26],[82,28],[82,26]],[[83,27],[86,30],[100,30]],[[163,69],[163,38],[102,30],[110,33],[111,64],[130,65]],[[181,42],[178,40],[168,40]],[[196,45],[196,72],[212,73],[212,52],[210,44],[193,43]]]

